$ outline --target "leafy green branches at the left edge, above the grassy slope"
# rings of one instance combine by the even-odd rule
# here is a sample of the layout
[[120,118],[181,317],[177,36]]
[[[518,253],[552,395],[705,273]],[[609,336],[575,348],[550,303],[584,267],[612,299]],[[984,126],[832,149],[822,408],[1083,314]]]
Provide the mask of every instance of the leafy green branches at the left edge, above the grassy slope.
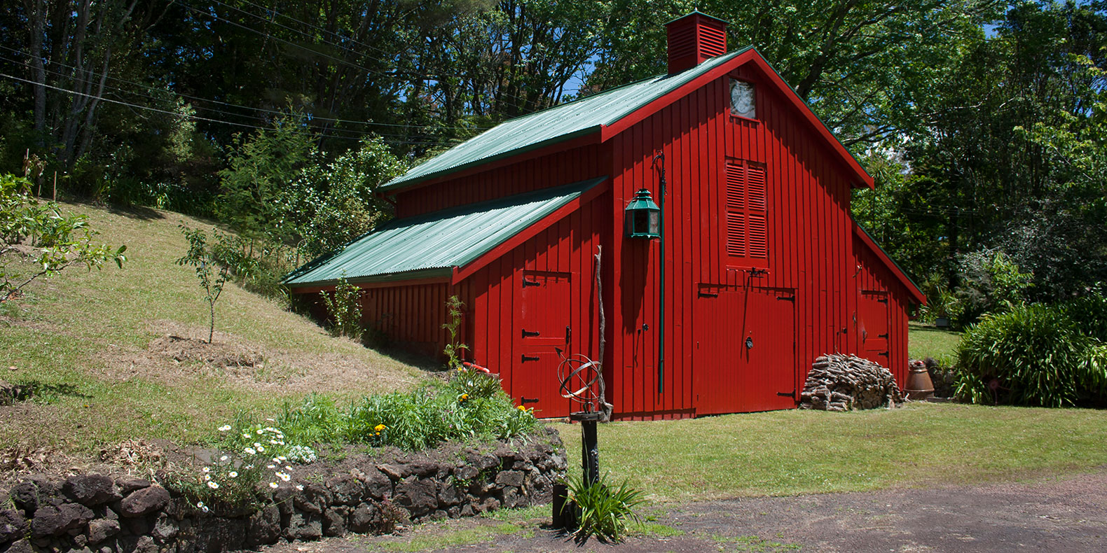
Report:
[[[112,248],[94,243],[99,232],[89,228],[81,215],[63,216],[56,204],[31,197],[31,182],[0,175],[0,303],[15,296],[35,279],[52,276],[73,267],[89,271],[114,261],[122,269],[126,246]],[[30,247],[24,252],[19,246]],[[9,259],[22,255],[34,261],[30,272],[12,269]]]

